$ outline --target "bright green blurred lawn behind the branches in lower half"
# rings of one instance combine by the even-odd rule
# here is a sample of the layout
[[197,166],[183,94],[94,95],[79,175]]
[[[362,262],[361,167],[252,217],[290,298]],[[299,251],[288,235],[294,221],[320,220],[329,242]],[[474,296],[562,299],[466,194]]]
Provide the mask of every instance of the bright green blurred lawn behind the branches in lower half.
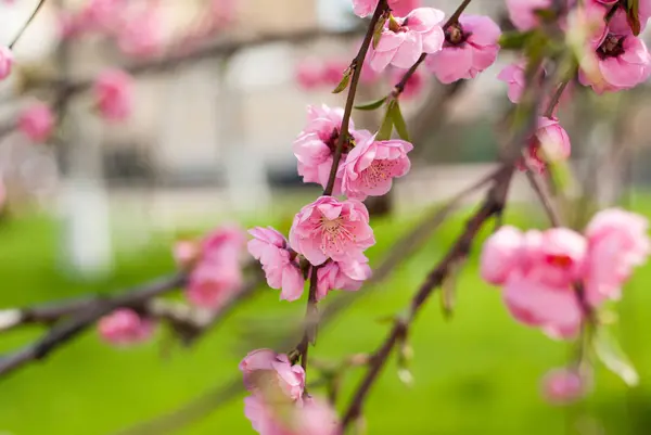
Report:
[[[509,220],[542,223],[540,217],[510,212]],[[376,261],[392,241],[416,218],[374,222],[379,243],[370,250]],[[253,223],[267,223],[261,218]],[[288,226],[286,219],[282,223]],[[460,231],[462,218],[446,223],[423,250],[399,266],[372,295],[361,298],[323,329],[310,357],[337,360],[371,351],[387,331],[378,320],[404,307],[427,271]],[[14,220],[0,227],[0,307],[24,305],[85,292],[116,290],[173,268],[168,244],[161,238],[137,253],[120,255],[114,274],[99,283],[75,282],[60,269],[58,232],[46,218]],[[484,234],[485,235],[485,234]],[[366,406],[369,434],[499,434],[642,435],[651,427],[651,270],[635,274],[620,304],[620,335],[640,371],[634,389],[610,372],[597,370],[595,392],[571,409],[546,405],[539,397],[540,376],[566,360],[570,346],[516,324],[506,312],[500,294],[477,277],[473,258],[458,281],[454,319],[445,321],[435,295],[420,314],[410,336],[414,350],[414,385],[398,381],[396,367],[384,370]],[[247,303],[190,349],[158,340],[120,350],[102,344],[94,331],[0,381],[0,433],[15,435],[108,434],[152,419],[238,376],[237,364],[258,341],[302,316],[303,303],[278,302],[269,290]],[[0,337],[7,351],[39,335],[40,329],[15,331]],[[647,332],[647,333],[646,333]],[[310,370],[310,378],[316,371]],[[343,407],[360,370],[346,378]],[[253,433],[242,413],[242,395],[180,434]],[[597,427],[597,428],[596,428]],[[598,428],[602,428],[599,432]],[[576,432],[580,431],[580,432]]]

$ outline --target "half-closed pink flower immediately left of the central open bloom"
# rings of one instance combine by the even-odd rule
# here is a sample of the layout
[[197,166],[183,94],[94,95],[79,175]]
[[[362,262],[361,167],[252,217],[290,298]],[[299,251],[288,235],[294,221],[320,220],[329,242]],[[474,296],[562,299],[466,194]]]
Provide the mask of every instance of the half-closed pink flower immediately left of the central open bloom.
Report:
[[248,231],[248,253],[260,261],[271,289],[282,289],[280,298],[296,300],[303,294],[305,279],[296,253],[288,247],[285,238],[273,228],[256,227]]

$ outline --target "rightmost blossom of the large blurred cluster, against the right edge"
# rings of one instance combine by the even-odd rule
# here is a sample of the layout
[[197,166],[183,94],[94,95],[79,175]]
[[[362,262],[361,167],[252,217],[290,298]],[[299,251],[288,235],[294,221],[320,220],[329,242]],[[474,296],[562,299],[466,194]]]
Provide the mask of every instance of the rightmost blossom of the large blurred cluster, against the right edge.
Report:
[[620,208],[599,212],[586,228],[588,259],[586,293],[592,305],[618,299],[623,283],[634,267],[646,263],[651,253],[649,221]]

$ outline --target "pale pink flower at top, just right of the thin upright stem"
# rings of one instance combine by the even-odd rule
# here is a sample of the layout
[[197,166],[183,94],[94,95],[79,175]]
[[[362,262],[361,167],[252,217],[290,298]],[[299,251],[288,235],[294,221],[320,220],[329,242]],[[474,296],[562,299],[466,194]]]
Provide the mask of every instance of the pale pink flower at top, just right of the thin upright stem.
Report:
[[443,48],[445,35],[441,28],[443,11],[418,8],[404,18],[388,20],[375,49],[371,48],[370,65],[383,71],[388,64],[409,68],[422,53],[435,53]]

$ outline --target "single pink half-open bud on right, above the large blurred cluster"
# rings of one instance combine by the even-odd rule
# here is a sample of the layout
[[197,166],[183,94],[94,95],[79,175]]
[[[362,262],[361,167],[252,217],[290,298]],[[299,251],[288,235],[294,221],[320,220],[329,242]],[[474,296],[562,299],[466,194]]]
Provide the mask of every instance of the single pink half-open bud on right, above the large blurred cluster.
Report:
[[567,159],[571,152],[570,137],[559,120],[538,117],[538,129],[525,153],[528,166],[541,174],[547,168],[547,163]]

